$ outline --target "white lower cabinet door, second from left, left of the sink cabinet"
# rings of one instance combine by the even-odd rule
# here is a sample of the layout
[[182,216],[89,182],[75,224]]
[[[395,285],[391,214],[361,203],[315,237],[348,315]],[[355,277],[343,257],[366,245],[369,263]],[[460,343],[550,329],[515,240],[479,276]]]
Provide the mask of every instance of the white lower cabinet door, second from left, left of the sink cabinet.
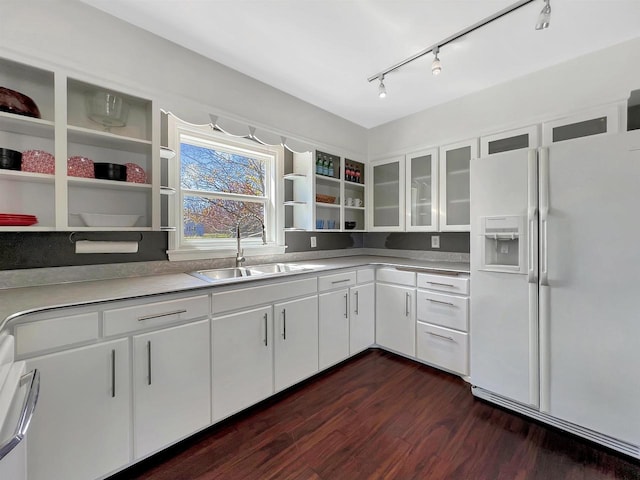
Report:
[[134,457],[211,423],[209,321],[133,337]]

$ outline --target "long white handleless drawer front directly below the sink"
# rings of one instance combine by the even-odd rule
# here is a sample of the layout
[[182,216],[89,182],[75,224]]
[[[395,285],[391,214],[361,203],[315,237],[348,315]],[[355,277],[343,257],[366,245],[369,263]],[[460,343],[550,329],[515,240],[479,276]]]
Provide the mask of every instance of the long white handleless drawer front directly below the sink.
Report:
[[239,310],[254,305],[264,305],[287,298],[301,297],[317,293],[318,280],[316,277],[293,282],[280,282],[260,287],[241,288],[228,292],[213,294],[213,313],[218,314],[229,310]]

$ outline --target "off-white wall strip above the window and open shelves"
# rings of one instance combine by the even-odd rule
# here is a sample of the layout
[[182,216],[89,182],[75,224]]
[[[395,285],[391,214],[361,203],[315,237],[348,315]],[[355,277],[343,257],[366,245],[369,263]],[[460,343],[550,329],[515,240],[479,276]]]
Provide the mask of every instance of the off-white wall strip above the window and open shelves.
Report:
[[342,150],[336,153],[366,154],[363,127],[85,4],[1,3],[0,55],[6,50],[27,62],[42,60],[86,72],[96,81],[131,85],[192,123],[209,123],[209,113],[226,113]]

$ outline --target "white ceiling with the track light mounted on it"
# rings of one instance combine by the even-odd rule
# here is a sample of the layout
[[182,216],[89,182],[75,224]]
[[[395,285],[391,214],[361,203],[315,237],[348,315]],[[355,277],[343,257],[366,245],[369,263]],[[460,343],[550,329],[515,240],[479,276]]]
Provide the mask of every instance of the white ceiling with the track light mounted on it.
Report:
[[[80,0],[366,128],[640,37],[640,0],[543,0],[367,78],[515,0]],[[606,58],[602,59],[606,68]]]

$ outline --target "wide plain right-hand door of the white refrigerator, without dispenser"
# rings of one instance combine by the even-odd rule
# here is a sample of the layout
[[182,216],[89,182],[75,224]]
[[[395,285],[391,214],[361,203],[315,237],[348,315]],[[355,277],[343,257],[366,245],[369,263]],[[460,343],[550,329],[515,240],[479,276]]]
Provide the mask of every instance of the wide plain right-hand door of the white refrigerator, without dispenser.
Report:
[[541,152],[541,410],[640,444],[640,151],[627,142],[554,144],[547,165]]

